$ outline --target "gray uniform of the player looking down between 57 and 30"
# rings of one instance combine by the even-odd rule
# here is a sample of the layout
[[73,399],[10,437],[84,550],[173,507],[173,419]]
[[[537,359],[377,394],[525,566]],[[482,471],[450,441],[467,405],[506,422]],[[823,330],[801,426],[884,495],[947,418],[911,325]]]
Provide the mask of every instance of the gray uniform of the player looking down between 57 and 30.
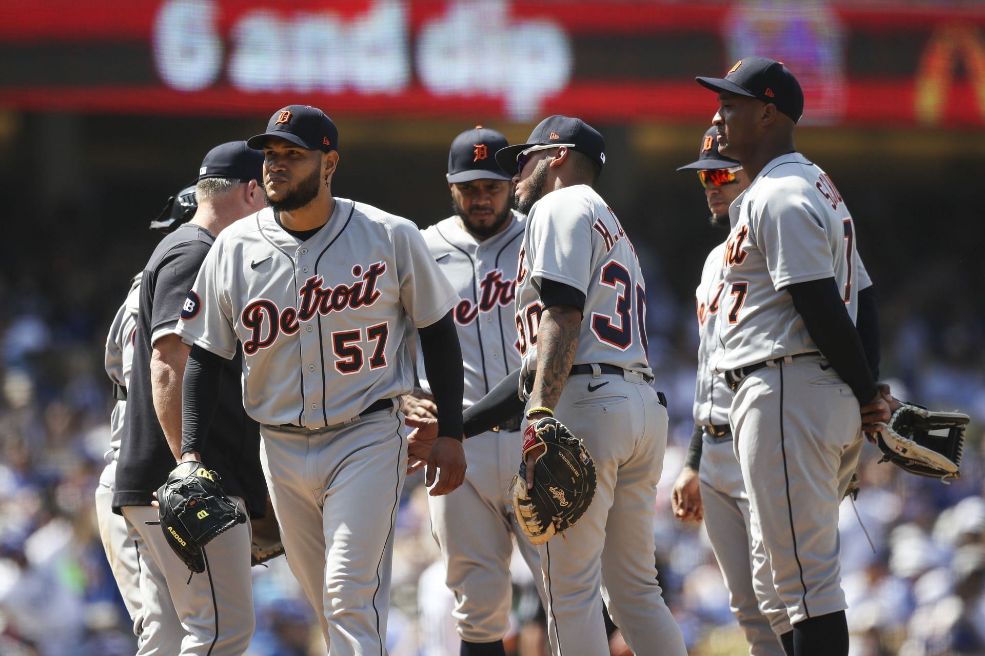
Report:
[[[458,217],[422,231],[431,255],[462,298],[455,306],[455,323],[462,345],[466,407],[520,365],[513,278],[525,228],[526,218],[514,212],[504,230],[483,241],[464,230]],[[430,391],[420,349],[418,376]],[[509,627],[514,535],[519,537],[520,555],[538,574],[538,591],[547,603],[537,550],[519,530],[507,495],[522,442],[518,429],[467,439],[465,484],[452,494],[427,497],[445,582],[454,592],[452,616],[459,636],[468,642],[498,640]],[[466,525],[469,530],[462,531]]]

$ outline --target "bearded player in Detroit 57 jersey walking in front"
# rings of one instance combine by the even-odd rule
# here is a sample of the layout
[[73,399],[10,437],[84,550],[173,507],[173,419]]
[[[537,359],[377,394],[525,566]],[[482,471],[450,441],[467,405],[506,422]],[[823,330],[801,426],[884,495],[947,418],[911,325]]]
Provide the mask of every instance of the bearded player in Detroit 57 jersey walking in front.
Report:
[[208,449],[216,371],[241,344],[288,563],[332,656],[382,656],[406,476],[398,408],[414,382],[405,333],[418,328],[427,368],[445,374],[429,381],[442,436],[426,478],[451,492],[465,476],[459,298],[413,223],[332,196],[338,142],[328,116],[298,104],[247,142],[263,150],[269,207],[219,236],[188,295],[181,449]]

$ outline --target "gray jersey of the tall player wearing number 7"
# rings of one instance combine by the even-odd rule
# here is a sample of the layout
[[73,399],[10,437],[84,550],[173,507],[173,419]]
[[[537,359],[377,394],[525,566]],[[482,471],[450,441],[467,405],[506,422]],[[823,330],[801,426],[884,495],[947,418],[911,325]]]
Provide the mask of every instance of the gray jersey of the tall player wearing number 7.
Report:
[[793,298],[796,283],[834,277],[855,320],[858,292],[871,284],[861,266],[855,228],[827,174],[803,155],[774,159],[729,208],[732,231],[722,261],[716,371],[817,351]]

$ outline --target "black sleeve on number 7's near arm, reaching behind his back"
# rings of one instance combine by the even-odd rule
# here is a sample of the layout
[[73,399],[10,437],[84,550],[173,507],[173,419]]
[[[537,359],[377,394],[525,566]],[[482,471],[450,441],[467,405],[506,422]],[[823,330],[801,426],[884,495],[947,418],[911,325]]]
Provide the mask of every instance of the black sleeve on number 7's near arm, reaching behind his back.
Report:
[[794,307],[804,319],[811,339],[841,379],[852,388],[859,404],[872,401],[879,388],[869,371],[862,340],[848,316],[834,278],[796,283],[786,290],[793,296]]

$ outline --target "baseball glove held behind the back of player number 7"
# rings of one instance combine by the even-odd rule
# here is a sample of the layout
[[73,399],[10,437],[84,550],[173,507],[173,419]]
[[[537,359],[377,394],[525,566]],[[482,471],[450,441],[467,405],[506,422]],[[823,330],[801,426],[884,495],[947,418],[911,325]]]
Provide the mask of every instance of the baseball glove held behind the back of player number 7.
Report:
[[876,443],[883,451],[880,462],[891,462],[910,474],[945,483],[958,479],[967,424],[968,416],[961,413],[939,413],[903,404],[876,433]]

